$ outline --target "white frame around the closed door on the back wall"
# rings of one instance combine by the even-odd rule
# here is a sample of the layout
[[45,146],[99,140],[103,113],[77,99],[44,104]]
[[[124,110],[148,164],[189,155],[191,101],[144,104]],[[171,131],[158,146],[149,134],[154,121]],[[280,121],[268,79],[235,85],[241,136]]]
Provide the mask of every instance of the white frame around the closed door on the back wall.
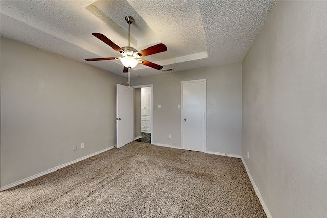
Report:
[[[188,81],[181,81],[180,82],[180,95],[181,95],[181,148],[184,149],[184,142],[183,142],[183,137],[184,137],[184,129],[183,129],[183,113],[184,113],[184,104],[183,104],[183,84],[184,83],[196,83],[196,82],[203,82],[204,85],[204,90],[203,90],[203,94],[204,94],[204,153],[207,153],[206,150],[206,79],[199,79],[199,80],[188,80]],[[152,139],[152,138],[151,138]]]

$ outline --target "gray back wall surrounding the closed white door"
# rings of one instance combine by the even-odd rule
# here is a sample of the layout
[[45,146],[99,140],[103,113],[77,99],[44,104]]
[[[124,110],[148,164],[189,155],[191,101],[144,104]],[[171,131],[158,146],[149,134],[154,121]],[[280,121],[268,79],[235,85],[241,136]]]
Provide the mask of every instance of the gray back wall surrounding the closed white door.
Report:
[[133,78],[133,85],[153,84],[153,143],[181,147],[180,82],[207,79],[207,151],[241,155],[241,71],[231,64]]

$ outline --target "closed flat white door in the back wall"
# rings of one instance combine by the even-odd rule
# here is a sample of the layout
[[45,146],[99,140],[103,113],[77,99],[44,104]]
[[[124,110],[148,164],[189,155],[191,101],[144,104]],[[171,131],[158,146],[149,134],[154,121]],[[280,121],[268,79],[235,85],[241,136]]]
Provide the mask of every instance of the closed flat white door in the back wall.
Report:
[[183,81],[182,147],[206,152],[206,80]]

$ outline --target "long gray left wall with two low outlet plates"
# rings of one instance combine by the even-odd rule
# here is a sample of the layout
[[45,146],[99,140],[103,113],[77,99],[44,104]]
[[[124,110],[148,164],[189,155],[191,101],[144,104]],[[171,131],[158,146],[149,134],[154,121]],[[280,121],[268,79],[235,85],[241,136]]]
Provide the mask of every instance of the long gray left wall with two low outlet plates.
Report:
[[126,78],[1,38],[1,186],[114,146],[116,83]]

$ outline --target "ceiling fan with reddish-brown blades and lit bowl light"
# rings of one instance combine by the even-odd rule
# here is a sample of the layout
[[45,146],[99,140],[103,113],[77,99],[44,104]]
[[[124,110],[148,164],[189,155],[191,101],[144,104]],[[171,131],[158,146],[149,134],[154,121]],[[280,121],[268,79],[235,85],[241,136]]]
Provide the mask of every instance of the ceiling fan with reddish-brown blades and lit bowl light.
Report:
[[130,42],[130,36],[131,36],[131,24],[134,22],[134,18],[131,16],[125,17],[126,22],[128,23],[128,46],[125,47],[119,47],[115,43],[113,43],[110,39],[108,39],[105,35],[101,33],[92,33],[95,37],[112,47],[112,49],[116,50],[121,54],[121,57],[110,57],[110,58],[88,58],[85,59],[86,61],[103,61],[103,60],[119,60],[124,65],[123,72],[129,72],[131,68],[135,67],[138,63],[152,67],[154,69],[160,70],[163,68],[163,66],[160,66],[158,64],[152,63],[150,61],[146,61],[144,59],[141,59],[148,55],[153,55],[159,52],[165,52],[167,51],[166,45],[160,43],[151,47],[148,47],[147,49],[137,51],[133,47],[131,47]]

